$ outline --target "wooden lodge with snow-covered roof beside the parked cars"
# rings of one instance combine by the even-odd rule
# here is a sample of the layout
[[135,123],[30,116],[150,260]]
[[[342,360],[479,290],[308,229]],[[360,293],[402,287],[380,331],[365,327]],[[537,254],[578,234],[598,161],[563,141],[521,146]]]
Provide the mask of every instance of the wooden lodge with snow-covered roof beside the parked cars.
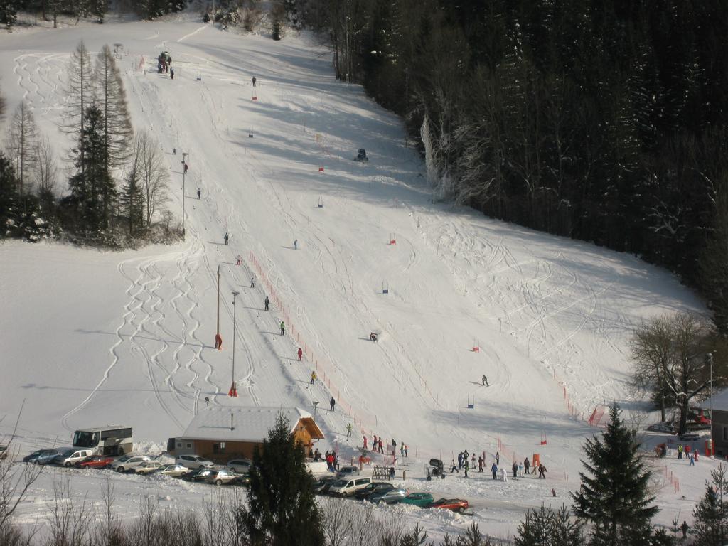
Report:
[[278,414],[288,418],[290,434],[304,445],[306,453],[314,440],[323,440],[311,414],[301,408],[215,405],[199,411],[183,435],[174,439],[173,454],[196,454],[218,463],[251,459],[253,449],[262,446],[275,427]]

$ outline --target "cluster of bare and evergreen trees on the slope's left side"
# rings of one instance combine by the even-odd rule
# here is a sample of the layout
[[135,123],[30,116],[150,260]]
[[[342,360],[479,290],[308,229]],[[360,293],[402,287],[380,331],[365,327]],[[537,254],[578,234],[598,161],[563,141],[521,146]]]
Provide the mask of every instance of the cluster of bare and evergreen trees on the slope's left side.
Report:
[[[103,245],[175,238],[165,210],[169,173],[159,143],[132,130],[114,53],[105,45],[91,60],[83,41],[68,63],[63,130],[75,146],[66,191],[50,143],[21,102],[0,151],[2,236],[65,237]],[[0,116],[5,101],[0,101]],[[120,180],[119,180],[120,178]]]

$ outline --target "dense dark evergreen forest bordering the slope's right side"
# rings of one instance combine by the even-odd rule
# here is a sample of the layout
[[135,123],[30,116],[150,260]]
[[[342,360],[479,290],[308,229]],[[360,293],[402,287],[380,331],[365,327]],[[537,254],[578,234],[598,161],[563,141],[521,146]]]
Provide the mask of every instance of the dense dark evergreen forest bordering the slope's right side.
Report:
[[728,333],[724,0],[287,0],[439,199],[634,253]]

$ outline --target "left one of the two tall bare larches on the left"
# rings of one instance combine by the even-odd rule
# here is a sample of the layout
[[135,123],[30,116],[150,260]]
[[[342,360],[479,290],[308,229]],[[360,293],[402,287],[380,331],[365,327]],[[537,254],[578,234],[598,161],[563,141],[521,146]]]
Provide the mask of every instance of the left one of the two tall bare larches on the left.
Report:
[[83,175],[86,170],[86,151],[84,134],[87,108],[93,99],[93,72],[91,59],[84,41],[79,41],[76,50],[71,53],[68,63],[68,82],[66,83],[66,130],[76,138],[79,149],[76,154],[76,166]]

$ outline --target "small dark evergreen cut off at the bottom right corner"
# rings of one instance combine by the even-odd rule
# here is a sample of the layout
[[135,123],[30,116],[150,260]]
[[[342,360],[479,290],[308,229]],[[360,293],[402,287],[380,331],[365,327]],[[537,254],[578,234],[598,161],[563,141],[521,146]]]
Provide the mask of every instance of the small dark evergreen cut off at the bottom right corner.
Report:
[[728,480],[722,464],[711,471],[712,483],[707,483],[705,495],[693,510],[695,524],[692,532],[701,546],[723,546],[728,541]]

